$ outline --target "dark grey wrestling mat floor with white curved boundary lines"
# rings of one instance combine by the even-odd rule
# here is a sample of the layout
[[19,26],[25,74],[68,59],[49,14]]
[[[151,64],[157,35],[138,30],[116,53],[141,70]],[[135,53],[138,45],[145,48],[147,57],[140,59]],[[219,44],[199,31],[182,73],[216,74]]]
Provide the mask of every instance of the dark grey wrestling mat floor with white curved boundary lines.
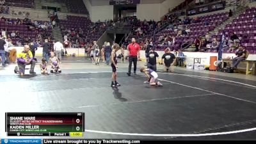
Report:
[[[143,65],[139,61],[138,70]],[[174,73],[158,72],[164,86],[156,88],[144,84],[140,72],[127,77],[125,61],[118,63],[122,86],[113,89],[111,67],[96,66],[84,58],[63,59],[62,73],[49,76],[39,74],[38,64],[35,76],[19,77],[13,74],[14,67],[0,67],[1,124],[5,112],[84,112],[84,138],[256,138],[256,131],[250,131],[256,127],[255,76],[175,68]],[[211,134],[230,131],[236,132]],[[0,137],[6,138],[6,133],[1,131]]]

